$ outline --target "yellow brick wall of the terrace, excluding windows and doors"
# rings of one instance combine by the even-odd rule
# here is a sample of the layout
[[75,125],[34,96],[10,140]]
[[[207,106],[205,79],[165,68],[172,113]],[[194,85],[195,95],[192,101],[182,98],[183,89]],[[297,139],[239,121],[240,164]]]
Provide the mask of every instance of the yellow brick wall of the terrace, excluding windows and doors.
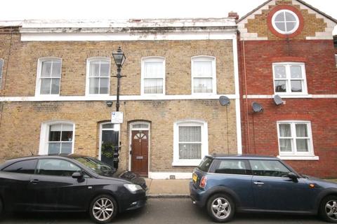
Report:
[[[111,119],[115,103],[105,99],[88,101],[86,59],[110,57],[119,46],[126,54],[121,79],[121,95],[140,96],[141,59],[160,56],[166,62],[166,95],[190,95],[191,57],[216,57],[217,94],[235,94],[232,40],[200,41],[20,41],[20,34],[0,34],[0,57],[4,58],[6,88],[0,97],[34,97],[37,64],[41,57],[62,58],[60,97],[83,97],[83,101],[0,102],[0,160],[39,153],[41,124],[67,120],[75,125],[74,153],[98,157],[100,123]],[[9,45],[11,52],[8,54]],[[9,64],[8,64],[9,55]],[[8,64],[8,69],[6,66]],[[111,76],[116,74],[113,59]],[[110,96],[116,94],[117,79],[110,78]],[[237,153],[235,99],[220,106],[218,99],[122,100],[120,169],[129,164],[129,123],[150,123],[149,172],[192,172],[193,167],[174,167],[173,124],[178,120],[203,120],[208,125],[209,153]],[[240,143],[241,144],[241,143]]]

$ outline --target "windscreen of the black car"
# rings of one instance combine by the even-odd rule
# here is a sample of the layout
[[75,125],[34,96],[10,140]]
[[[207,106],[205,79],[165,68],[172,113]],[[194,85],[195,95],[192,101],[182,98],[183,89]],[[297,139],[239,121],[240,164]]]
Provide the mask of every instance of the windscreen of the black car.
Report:
[[98,175],[112,176],[112,174],[116,172],[116,170],[113,167],[95,158],[79,157],[79,158],[75,158],[75,160],[77,160],[77,162],[81,162],[82,165],[88,167],[89,169],[91,169],[93,172],[95,172]]

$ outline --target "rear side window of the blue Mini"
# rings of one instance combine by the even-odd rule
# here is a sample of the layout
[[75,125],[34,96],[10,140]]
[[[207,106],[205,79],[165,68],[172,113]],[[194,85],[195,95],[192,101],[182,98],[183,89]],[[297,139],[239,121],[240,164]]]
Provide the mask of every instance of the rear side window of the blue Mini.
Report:
[[244,160],[219,160],[216,164],[218,174],[242,174],[250,175],[249,168]]

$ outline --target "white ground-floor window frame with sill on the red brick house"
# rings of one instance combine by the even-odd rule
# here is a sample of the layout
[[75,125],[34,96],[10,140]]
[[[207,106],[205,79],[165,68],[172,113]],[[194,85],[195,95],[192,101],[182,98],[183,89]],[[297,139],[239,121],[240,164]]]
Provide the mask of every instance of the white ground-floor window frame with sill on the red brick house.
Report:
[[[291,137],[280,137],[279,125],[291,125]],[[296,125],[307,125],[308,137],[296,137]],[[291,152],[282,152],[280,139],[291,139]],[[296,139],[309,139],[308,152],[298,152],[296,149]],[[279,145],[279,158],[284,160],[318,160],[314,153],[314,144],[312,141],[311,122],[308,120],[282,120],[277,121],[277,141]]]

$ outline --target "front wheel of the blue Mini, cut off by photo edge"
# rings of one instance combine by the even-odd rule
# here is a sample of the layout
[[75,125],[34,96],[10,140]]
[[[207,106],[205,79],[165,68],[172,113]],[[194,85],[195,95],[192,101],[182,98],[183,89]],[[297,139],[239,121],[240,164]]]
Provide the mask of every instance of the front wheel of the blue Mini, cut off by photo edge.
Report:
[[319,213],[325,221],[337,223],[337,197],[328,196],[322,200]]

